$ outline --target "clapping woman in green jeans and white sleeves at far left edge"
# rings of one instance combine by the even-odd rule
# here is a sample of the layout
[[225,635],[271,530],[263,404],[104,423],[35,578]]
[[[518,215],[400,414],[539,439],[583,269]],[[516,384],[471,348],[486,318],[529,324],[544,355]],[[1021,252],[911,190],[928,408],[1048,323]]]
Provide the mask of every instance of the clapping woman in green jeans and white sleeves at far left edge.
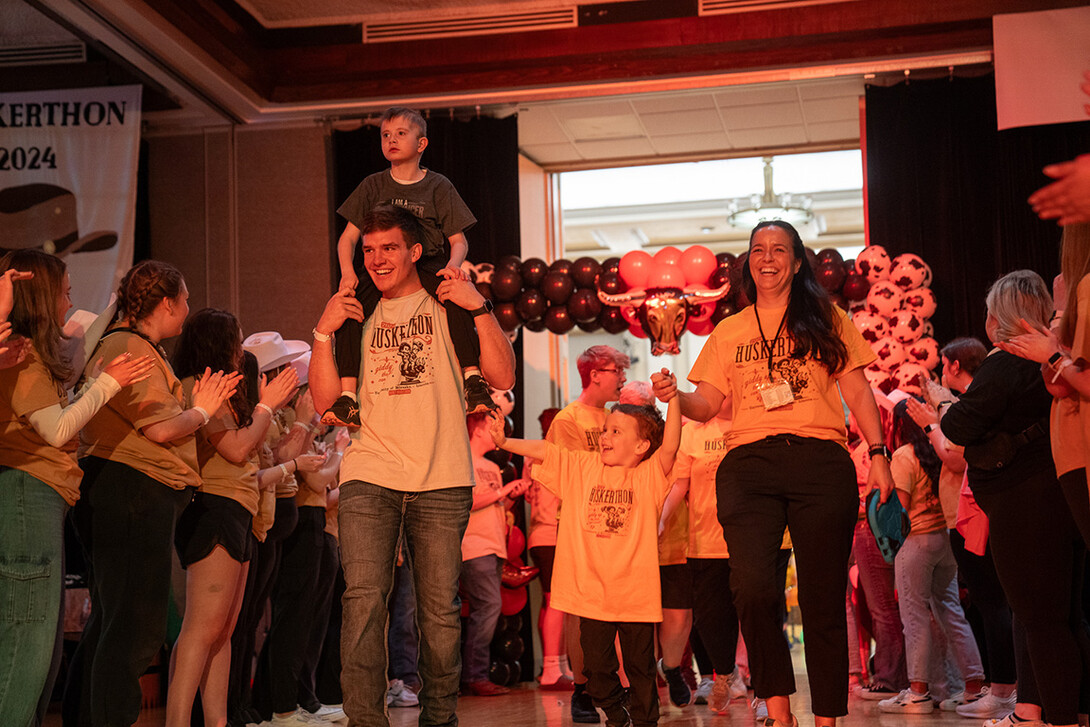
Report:
[[[0,714],[7,724],[36,724],[48,703],[64,589],[64,514],[80,497],[76,433],[122,387],[147,377],[148,356],[117,356],[69,403],[72,375],[64,355],[64,316],[72,307],[60,258],[21,250],[0,258],[0,271],[33,276],[14,289],[9,322],[23,337],[25,359],[0,369]],[[9,276],[10,277],[10,276]],[[38,712],[38,717],[43,712]]]

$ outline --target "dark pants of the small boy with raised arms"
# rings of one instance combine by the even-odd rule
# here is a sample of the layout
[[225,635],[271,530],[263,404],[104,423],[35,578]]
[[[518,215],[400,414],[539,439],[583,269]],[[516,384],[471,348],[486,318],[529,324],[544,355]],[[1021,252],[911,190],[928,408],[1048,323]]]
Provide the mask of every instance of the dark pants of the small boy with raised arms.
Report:
[[629,683],[629,715],[635,727],[658,724],[658,686],[655,682],[655,625],[596,621],[580,618],[579,643],[583,647],[583,675],[594,705],[606,713],[610,727],[623,725],[621,686],[617,677],[617,649],[625,659]]

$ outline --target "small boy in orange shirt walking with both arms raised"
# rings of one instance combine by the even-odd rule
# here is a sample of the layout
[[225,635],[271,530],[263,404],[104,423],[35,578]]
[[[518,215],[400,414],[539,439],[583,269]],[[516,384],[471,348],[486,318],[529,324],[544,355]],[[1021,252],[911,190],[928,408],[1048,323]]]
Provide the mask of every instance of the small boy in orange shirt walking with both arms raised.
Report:
[[[656,379],[673,379],[665,368]],[[670,401],[666,422],[651,407],[617,404],[606,419],[601,452],[572,451],[543,440],[507,439],[493,415],[493,441],[542,460],[533,477],[561,499],[553,603],[581,619],[588,691],[609,727],[658,723],[654,633],[663,609],[658,590],[658,517],[681,438]],[[622,703],[615,641],[630,684]]]

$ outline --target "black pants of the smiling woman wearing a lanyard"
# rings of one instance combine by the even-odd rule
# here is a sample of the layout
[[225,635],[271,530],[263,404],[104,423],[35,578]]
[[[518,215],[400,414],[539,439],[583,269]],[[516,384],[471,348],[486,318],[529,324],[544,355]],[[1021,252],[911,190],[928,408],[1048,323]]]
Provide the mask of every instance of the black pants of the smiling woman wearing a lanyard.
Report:
[[754,694],[767,699],[795,691],[780,617],[785,584],[777,580],[776,568],[784,529],[789,528],[813,713],[847,714],[844,594],[859,511],[856,471],[847,450],[835,441],[794,435],[736,447],[719,464],[716,498]]

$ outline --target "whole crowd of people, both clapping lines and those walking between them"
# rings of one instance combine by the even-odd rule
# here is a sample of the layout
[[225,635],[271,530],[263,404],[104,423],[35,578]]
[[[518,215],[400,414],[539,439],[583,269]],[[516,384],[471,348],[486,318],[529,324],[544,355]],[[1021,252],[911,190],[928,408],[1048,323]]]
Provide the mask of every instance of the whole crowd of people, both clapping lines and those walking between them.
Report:
[[[794,558],[815,727],[852,695],[1086,724],[1090,223],[1064,228],[1055,299],[1029,270],[997,280],[992,347],[952,341],[912,397],[871,389],[874,354],[798,232],[761,222],[753,304],[716,326],[691,386],[666,368],[626,386],[628,356],[595,346],[580,396],[517,439],[487,393],[514,386],[514,353],[460,268],[472,215],[420,166],[419,114],[382,129],[391,167],[341,208],[341,284],[313,343],[190,315],[179,270],[145,260],[76,359],[64,263],[0,258],[5,724],[40,724],[58,677],[70,518],[90,616],[66,727],[137,719],[172,595],[168,727],[371,727],[402,706],[456,725],[460,693],[507,692],[488,643],[523,497],[538,687],[570,690],[573,722],[654,725],[662,678],[678,707],[726,713],[752,690],[760,724],[797,725]],[[522,477],[505,482],[495,448],[524,458]],[[892,549],[872,501],[906,513]]]

